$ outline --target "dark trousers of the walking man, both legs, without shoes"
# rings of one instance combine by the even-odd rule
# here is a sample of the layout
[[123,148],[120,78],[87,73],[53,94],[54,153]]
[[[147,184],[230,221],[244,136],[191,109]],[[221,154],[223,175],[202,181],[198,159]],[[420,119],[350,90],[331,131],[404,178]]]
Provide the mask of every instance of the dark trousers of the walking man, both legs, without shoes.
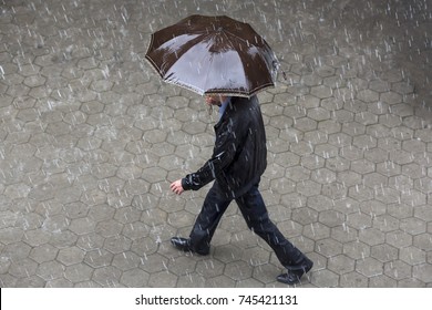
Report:
[[[207,193],[189,235],[194,249],[209,248],[216,227],[232,200],[233,198],[227,197],[216,180]],[[288,270],[301,269],[306,256],[288,241],[269,219],[266,205],[258,190],[258,184],[235,200],[249,229],[271,247],[280,264]]]

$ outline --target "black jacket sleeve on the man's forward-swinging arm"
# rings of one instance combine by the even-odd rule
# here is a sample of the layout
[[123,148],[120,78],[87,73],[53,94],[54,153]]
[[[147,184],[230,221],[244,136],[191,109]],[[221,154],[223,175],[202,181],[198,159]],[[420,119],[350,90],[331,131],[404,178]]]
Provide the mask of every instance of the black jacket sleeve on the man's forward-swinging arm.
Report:
[[182,179],[185,190],[197,190],[214,180],[235,159],[241,141],[241,122],[226,118],[218,128],[212,157],[196,173]]

